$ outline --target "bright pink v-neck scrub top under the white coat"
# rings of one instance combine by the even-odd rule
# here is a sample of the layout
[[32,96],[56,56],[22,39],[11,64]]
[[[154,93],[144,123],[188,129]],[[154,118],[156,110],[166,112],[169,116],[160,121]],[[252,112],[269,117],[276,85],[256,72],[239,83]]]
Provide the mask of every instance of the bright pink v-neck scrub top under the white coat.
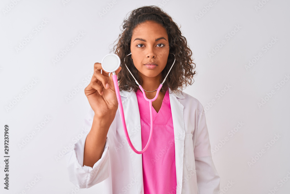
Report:
[[[143,93],[136,92],[140,119],[142,149],[150,134],[149,102]],[[169,90],[167,89],[158,113],[152,107],[153,134],[147,150],[142,154],[144,194],[176,193],[175,143]]]

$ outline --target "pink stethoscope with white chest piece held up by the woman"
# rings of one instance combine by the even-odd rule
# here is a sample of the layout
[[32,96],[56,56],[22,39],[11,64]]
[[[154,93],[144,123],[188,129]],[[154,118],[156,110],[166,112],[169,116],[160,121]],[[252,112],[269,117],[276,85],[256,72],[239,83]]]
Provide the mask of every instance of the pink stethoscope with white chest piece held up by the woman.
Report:
[[[132,53],[128,54],[127,56],[131,55]],[[170,53],[170,54],[173,54],[173,53]],[[174,55],[174,54],[173,54]],[[126,57],[125,57],[126,58]],[[126,65],[125,63],[125,58],[124,58],[124,64]],[[171,68],[170,70],[172,69],[173,65],[175,63],[175,55],[174,55],[174,62],[173,64],[171,65]],[[158,97],[158,94],[159,94],[159,91],[161,90],[162,86],[163,86],[163,83],[165,82],[166,80],[166,77],[168,76],[170,70],[168,71],[167,75],[165,76],[164,80],[162,83],[160,83],[159,87],[156,89],[157,92],[156,92],[156,95],[153,99],[148,99],[145,95],[145,92],[144,92],[144,89],[142,88],[142,86],[138,83],[138,81],[135,79],[135,77],[133,76],[133,74],[131,73],[131,71],[129,70],[129,68],[127,67],[128,71],[130,72],[130,74],[133,76],[133,78],[135,79],[135,82],[138,84],[140,90],[142,91],[143,93],[143,96],[144,98],[149,102],[149,106],[150,106],[150,135],[149,135],[149,139],[148,139],[148,142],[146,144],[146,146],[144,147],[144,149],[142,151],[137,151],[135,149],[135,147],[133,146],[131,140],[130,140],[130,137],[128,135],[128,131],[127,131],[127,127],[126,127],[126,123],[125,123],[125,117],[124,117],[124,110],[123,110],[123,105],[122,105],[122,100],[121,100],[121,96],[120,96],[120,91],[119,91],[119,86],[118,86],[118,80],[117,80],[117,75],[115,73],[115,71],[120,67],[121,65],[121,59],[119,58],[118,55],[116,54],[113,54],[113,53],[110,53],[110,54],[107,54],[106,56],[104,56],[103,60],[102,60],[102,68],[103,70],[105,70],[106,72],[108,73],[113,73],[112,75],[112,78],[113,78],[113,82],[114,82],[114,87],[115,87],[115,92],[116,92],[116,96],[117,96],[117,100],[118,100],[118,104],[119,104],[119,110],[120,110],[120,116],[121,116],[121,120],[122,120],[122,124],[123,124],[123,128],[124,128],[124,132],[125,132],[125,135],[126,135],[126,138],[127,138],[127,141],[130,145],[130,147],[133,149],[133,151],[137,154],[142,154],[146,151],[146,149],[148,148],[149,144],[150,144],[150,141],[151,141],[151,138],[152,138],[152,134],[153,134],[153,113],[152,113],[152,102],[154,100],[157,99]],[[146,90],[145,90],[146,91]],[[155,91],[155,90],[154,90]],[[154,91],[151,91],[151,92],[154,92]],[[148,92],[148,91],[147,91]]]

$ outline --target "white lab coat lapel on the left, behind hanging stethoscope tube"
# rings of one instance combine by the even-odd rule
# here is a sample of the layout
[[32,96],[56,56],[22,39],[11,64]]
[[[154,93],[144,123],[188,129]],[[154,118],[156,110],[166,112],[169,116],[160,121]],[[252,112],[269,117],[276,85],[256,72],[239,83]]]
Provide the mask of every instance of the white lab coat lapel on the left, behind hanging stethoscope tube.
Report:
[[[120,91],[120,95],[127,97],[124,101],[122,101],[122,104],[128,135],[135,149],[141,151],[142,150],[141,120],[139,116],[140,113],[136,93],[134,91],[131,92]],[[144,193],[142,154],[136,154],[128,143],[127,145],[130,152],[131,161],[133,164],[133,171],[135,175],[137,191],[138,193]]]

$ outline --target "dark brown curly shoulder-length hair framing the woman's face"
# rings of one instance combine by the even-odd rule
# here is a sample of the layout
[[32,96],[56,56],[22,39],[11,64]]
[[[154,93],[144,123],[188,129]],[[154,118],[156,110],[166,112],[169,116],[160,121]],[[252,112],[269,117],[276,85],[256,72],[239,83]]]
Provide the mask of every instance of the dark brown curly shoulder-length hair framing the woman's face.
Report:
[[[124,19],[123,21],[122,33],[120,33],[119,37],[117,38],[118,43],[113,47],[113,50],[110,51],[112,52],[115,50],[115,54],[117,54],[121,59],[122,70],[117,75],[119,90],[120,91],[134,90],[134,92],[137,92],[138,89],[140,90],[134,78],[127,70],[124,64],[124,58],[131,52],[130,44],[133,30],[136,28],[138,24],[147,21],[153,21],[158,24],[161,24],[167,31],[169,52],[175,55],[175,63],[170,73],[168,74],[163,86],[168,86],[173,92],[179,93],[180,90],[183,89],[184,84],[186,84],[186,86],[187,83],[189,83],[190,85],[193,84],[194,82],[193,75],[196,73],[195,71],[194,72],[192,71],[195,69],[195,63],[193,63],[193,60],[191,59],[192,51],[187,46],[186,38],[181,35],[179,27],[175,22],[173,22],[173,19],[158,6],[139,7],[131,12],[128,19]],[[117,40],[115,40],[115,42]],[[162,71],[163,79],[165,78],[166,74],[171,68],[171,65],[173,64],[174,61],[173,54],[168,55],[167,64],[164,70]],[[137,69],[134,66],[133,59],[130,56],[127,56],[125,62],[129,70],[134,75],[135,79],[139,82],[139,84],[142,85],[143,83],[142,77],[140,77],[139,74],[137,73]],[[160,83],[162,81],[163,80],[160,80]],[[164,92],[166,90],[164,89],[164,87],[162,87],[160,91]]]

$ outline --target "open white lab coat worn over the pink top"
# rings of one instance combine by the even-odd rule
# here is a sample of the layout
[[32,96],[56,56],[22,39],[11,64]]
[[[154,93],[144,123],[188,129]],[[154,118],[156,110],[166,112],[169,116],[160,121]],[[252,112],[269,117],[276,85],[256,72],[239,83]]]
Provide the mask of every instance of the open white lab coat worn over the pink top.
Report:
[[[128,134],[134,147],[141,151],[141,124],[136,93],[120,91],[120,95]],[[219,194],[220,177],[212,160],[202,104],[185,92],[169,93],[169,99],[175,137],[176,193]],[[91,129],[93,116],[94,112],[90,109],[84,128]],[[102,157],[93,168],[83,166],[87,134],[66,153],[70,181],[79,188],[89,188],[104,181],[102,193],[106,194],[144,193],[142,154],[136,154],[129,146],[119,111],[110,125]]]

